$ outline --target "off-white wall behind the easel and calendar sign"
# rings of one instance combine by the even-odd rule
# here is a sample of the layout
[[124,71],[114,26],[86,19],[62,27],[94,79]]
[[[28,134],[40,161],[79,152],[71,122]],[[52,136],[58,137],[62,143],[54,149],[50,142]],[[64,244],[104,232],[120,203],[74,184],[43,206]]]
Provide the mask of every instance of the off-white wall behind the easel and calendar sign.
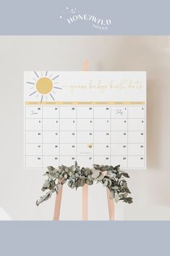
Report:
[[[146,70],[148,72],[147,170],[129,171],[133,205],[125,219],[142,219],[139,207],[170,207],[170,40],[168,36],[0,36],[0,207],[13,220],[51,220],[54,197],[35,206],[44,177],[23,170],[23,71]],[[90,219],[107,220],[106,191],[90,187]],[[99,201],[101,197],[101,202]],[[130,214],[128,214],[128,211]],[[122,215],[119,213],[118,219]],[[161,215],[164,219],[164,214]],[[81,189],[64,186],[61,219],[81,219]],[[145,219],[148,219],[145,213]]]

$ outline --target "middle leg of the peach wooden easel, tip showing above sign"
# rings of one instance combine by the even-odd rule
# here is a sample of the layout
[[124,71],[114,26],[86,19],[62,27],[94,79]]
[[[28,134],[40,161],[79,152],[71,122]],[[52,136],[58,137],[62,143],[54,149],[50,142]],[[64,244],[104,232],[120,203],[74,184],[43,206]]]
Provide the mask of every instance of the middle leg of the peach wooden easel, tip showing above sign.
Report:
[[[83,70],[88,70],[88,62],[85,59]],[[88,185],[82,187],[82,220],[88,220]]]

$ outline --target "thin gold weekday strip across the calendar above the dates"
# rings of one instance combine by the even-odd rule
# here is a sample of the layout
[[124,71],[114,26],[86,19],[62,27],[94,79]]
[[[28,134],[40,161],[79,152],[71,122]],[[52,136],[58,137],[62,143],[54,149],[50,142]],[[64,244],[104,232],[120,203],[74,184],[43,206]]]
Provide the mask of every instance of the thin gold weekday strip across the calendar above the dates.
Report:
[[144,105],[145,102],[25,102],[25,105]]

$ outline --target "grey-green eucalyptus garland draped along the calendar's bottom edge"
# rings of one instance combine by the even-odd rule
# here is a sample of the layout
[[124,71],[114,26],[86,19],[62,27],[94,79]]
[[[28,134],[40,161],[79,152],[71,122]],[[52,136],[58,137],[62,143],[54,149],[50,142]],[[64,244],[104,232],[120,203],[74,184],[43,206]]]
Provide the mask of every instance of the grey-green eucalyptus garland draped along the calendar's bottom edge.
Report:
[[110,198],[115,202],[123,201],[132,203],[132,197],[128,197],[131,192],[128,189],[127,181],[129,174],[120,170],[120,165],[93,165],[93,168],[80,168],[75,165],[70,167],[61,165],[58,168],[48,166],[48,171],[44,174],[48,178],[43,183],[42,191],[46,191],[42,197],[36,201],[36,205],[48,200],[53,193],[58,194],[59,189],[67,182],[71,189],[77,189],[85,184],[91,186],[94,181],[102,183],[109,189]]

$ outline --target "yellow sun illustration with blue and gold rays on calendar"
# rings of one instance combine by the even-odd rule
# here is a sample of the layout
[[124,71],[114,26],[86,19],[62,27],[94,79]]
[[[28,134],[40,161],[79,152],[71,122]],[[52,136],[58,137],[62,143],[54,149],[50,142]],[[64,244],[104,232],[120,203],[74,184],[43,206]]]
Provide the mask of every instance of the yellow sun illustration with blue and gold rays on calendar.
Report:
[[[57,85],[57,78],[59,75],[53,75],[53,73],[46,72],[33,72],[33,79],[27,81],[30,87],[30,97],[35,96],[36,98],[41,97],[41,102],[45,97],[46,100],[56,100],[56,90],[61,89]],[[33,86],[34,85],[34,86]]]

